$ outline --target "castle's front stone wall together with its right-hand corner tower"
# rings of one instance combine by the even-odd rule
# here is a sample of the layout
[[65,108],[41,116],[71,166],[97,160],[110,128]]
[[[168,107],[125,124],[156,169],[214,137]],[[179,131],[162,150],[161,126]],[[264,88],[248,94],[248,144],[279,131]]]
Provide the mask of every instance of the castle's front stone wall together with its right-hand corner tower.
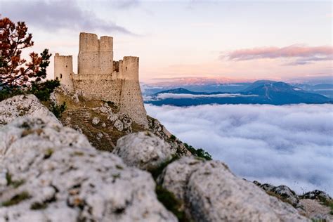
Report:
[[84,98],[111,101],[119,112],[128,114],[136,123],[146,126],[147,113],[138,83],[138,57],[124,57],[119,72],[112,74],[74,74],[74,89]]

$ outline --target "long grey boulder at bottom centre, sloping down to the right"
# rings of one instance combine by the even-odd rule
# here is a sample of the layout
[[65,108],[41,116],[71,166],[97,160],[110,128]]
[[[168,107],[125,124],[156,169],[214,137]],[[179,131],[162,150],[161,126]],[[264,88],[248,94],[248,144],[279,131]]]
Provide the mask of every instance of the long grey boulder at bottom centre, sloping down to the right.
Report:
[[222,162],[183,157],[169,164],[159,181],[183,198],[195,221],[308,221],[291,205],[237,178]]

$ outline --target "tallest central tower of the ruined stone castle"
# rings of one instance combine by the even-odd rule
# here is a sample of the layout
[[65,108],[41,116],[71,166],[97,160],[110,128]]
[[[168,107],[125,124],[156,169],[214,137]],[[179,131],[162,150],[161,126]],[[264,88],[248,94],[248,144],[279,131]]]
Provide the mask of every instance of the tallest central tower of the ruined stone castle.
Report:
[[111,74],[113,71],[113,38],[80,33],[78,74]]

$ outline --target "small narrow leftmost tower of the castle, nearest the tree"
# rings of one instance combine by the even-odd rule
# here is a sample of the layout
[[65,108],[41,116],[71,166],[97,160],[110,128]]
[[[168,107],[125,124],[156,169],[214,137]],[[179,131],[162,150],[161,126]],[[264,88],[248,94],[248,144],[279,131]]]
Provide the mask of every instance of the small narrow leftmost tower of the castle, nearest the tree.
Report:
[[55,53],[54,79],[58,78],[61,84],[65,85],[67,89],[72,91],[73,90],[72,74],[73,74],[72,55],[59,55],[59,53]]

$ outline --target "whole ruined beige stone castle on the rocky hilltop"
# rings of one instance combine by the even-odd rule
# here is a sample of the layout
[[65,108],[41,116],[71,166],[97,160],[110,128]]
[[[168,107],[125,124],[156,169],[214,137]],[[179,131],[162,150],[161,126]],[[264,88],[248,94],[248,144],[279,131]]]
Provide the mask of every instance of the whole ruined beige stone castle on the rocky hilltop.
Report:
[[148,124],[140,84],[139,58],[125,56],[113,60],[113,38],[80,33],[78,73],[73,72],[72,55],[54,57],[54,78],[65,88],[87,100],[105,100],[119,107],[137,124]]

